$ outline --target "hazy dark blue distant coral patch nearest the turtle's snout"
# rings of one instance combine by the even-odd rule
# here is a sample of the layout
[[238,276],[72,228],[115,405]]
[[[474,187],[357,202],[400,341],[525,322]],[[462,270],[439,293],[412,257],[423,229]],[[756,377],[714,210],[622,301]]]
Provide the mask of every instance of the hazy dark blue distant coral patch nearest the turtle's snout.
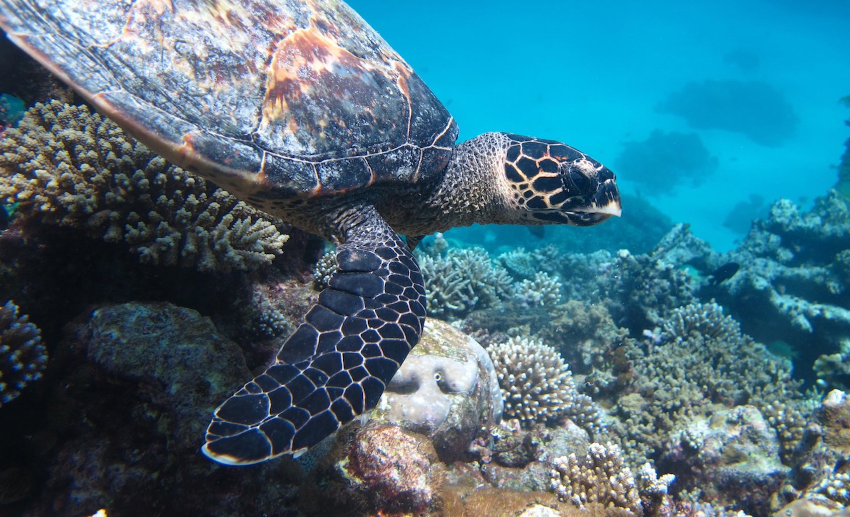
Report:
[[656,129],[641,142],[623,143],[615,165],[648,194],[670,194],[682,183],[706,181],[717,171],[717,157],[696,133]]

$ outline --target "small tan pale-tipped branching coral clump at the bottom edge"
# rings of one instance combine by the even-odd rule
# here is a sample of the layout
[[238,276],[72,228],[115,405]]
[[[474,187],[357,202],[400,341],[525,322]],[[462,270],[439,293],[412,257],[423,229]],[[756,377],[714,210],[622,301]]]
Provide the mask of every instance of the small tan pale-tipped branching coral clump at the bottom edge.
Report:
[[592,443],[581,460],[575,453],[555,458],[551,475],[550,486],[561,501],[581,509],[587,503],[602,503],[605,508],[643,515],[632,469],[623,463],[620,447],[613,443]]

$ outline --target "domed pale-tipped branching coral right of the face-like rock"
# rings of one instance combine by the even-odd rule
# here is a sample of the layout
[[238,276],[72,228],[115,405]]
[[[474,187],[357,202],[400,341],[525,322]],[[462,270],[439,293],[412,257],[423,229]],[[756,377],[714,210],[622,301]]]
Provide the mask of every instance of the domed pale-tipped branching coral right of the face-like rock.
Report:
[[506,419],[529,427],[567,417],[593,433],[601,428],[598,407],[575,391],[570,366],[541,340],[511,338],[487,351],[496,368]]

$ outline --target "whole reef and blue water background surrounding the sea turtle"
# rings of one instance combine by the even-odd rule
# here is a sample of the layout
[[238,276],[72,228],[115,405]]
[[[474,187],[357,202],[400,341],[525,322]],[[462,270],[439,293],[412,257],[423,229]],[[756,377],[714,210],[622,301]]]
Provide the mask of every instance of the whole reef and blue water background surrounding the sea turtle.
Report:
[[623,215],[424,239],[428,326],[371,419],[215,464],[330,244],[3,41],[0,515],[847,515],[850,5],[350,4],[461,140],[569,143]]

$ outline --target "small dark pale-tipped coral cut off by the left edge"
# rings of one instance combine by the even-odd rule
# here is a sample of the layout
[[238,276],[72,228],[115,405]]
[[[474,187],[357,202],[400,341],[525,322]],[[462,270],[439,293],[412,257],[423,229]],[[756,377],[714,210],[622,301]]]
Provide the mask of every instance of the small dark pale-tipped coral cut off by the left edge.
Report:
[[48,351],[42,331],[18,314],[18,306],[7,301],[0,307],[0,406],[12,402],[26,385],[42,378]]

